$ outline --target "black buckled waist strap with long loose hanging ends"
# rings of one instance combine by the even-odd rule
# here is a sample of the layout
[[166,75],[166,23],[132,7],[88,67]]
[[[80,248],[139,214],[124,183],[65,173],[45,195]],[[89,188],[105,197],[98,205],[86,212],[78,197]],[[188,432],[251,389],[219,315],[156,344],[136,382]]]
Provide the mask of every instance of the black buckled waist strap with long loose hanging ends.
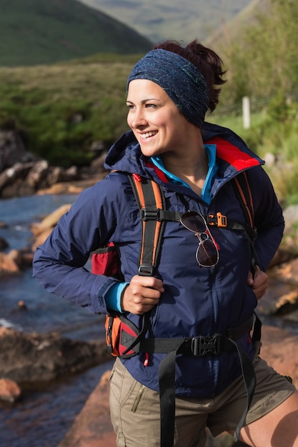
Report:
[[[254,321],[255,319],[255,321]],[[252,329],[254,323],[257,338],[260,335],[261,321],[252,316],[227,334],[217,333],[213,336],[194,338],[145,338],[139,343],[139,351],[146,353],[167,353],[159,365],[159,399],[161,408],[161,447],[174,446],[175,419],[175,365],[177,354],[185,356],[219,355],[222,352],[236,351],[239,356],[244,386],[247,391],[247,406],[234,433],[235,441],[247,417],[249,406],[256,386],[256,377],[252,361],[236,341]],[[253,336],[253,339],[256,338]]]

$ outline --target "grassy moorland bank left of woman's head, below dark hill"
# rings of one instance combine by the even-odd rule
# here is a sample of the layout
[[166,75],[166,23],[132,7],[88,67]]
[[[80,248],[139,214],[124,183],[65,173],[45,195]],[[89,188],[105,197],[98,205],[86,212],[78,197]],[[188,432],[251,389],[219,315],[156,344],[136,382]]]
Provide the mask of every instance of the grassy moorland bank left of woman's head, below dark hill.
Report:
[[0,69],[0,128],[19,129],[51,164],[88,164],[94,141],[109,146],[127,130],[126,79],[140,56]]

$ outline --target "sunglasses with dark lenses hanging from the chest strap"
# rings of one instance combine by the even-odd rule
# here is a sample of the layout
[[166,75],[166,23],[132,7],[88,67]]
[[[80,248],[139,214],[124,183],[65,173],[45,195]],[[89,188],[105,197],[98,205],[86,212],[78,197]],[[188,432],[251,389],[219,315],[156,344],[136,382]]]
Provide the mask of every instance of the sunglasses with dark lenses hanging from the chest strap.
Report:
[[182,214],[180,222],[199,239],[196,253],[199,266],[216,266],[219,261],[219,252],[202,214],[197,213],[197,211],[187,211],[187,213]]

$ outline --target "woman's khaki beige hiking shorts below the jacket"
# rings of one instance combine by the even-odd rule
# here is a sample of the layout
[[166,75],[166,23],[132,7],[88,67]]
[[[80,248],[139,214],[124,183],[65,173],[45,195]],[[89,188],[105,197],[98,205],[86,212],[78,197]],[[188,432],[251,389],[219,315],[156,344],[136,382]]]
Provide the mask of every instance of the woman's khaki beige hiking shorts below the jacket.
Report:
[[[256,356],[257,386],[246,423],[252,423],[282,403],[295,390]],[[134,380],[119,358],[110,378],[111,421],[117,447],[160,447],[159,393]],[[214,398],[176,398],[175,447],[204,447],[206,427],[213,436],[234,431],[247,403],[242,377]]]

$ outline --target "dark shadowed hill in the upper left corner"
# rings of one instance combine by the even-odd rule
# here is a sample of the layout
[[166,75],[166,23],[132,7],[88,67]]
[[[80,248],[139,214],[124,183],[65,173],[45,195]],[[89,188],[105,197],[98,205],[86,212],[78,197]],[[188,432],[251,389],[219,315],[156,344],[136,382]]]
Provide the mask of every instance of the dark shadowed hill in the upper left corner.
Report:
[[151,48],[136,31],[76,0],[0,0],[0,66],[49,64]]

